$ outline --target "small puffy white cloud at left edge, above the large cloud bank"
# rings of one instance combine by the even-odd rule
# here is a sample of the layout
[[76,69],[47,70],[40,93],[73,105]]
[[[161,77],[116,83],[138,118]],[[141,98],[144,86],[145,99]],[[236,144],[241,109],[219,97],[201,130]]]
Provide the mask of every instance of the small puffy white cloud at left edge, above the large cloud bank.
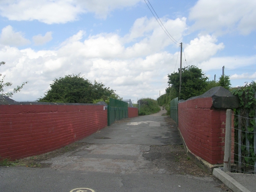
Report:
[[21,32],[14,32],[12,26],[8,25],[2,29],[0,44],[10,46],[22,46],[30,44],[30,40],[24,38]]

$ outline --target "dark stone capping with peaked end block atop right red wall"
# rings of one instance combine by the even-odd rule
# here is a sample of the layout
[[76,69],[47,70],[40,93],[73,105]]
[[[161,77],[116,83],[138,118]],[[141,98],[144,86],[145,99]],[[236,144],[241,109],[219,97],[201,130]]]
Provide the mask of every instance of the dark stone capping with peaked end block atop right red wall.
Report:
[[[229,90],[223,88],[222,86],[213,87],[204,94],[196,97],[191,97],[188,100],[208,97],[212,98],[212,108],[238,108],[238,97],[232,95],[232,93]],[[188,100],[180,100],[179,103],[186,102]]]

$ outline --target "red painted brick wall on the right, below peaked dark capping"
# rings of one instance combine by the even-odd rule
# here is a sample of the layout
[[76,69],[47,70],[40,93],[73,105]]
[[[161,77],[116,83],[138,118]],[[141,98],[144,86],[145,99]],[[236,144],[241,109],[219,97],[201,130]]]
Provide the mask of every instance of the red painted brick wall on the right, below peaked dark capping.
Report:
[[[184,142],[192,153],[210,164],[223,163],[226,109],[213,109],[211,97],[187,100],[178,104],[178,125]],[[232,152],[234,153],[234,142]]]

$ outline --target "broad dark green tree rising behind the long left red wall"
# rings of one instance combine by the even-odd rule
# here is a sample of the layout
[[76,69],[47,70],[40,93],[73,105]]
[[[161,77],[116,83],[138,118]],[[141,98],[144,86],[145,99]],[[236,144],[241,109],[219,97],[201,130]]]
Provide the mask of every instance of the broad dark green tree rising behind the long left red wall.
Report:
[[80,74],[55,78],[50,87],[44,97],[39,98],[40,102],[93,103],[107,101],[110,97],[120,99],[114,90],[96,81],[92,84]]

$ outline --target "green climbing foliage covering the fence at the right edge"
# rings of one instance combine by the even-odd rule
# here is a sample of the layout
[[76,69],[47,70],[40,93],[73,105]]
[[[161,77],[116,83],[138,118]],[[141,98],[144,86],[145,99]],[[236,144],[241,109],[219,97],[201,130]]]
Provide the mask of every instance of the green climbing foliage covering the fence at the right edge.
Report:
[[[235,126],[235,154],[238,154],[238,130],[241,127],[241,156],[242,170],[250,172],[250,166],[254,166],[256,154],[254,152],[254,139],[256,132],[255,110],[256,110],[256,83],[246,83],[244,87],[232,90],[232,94],[239,98],[239,108],[234,109],[234,126]],[[237,115],[237,116],[236,116]],[[239,116],[240,123],[239,123]],[[246,147],[247,146],[247,147]],[[235,161],[238,161],[238,156],[235,155]]]

